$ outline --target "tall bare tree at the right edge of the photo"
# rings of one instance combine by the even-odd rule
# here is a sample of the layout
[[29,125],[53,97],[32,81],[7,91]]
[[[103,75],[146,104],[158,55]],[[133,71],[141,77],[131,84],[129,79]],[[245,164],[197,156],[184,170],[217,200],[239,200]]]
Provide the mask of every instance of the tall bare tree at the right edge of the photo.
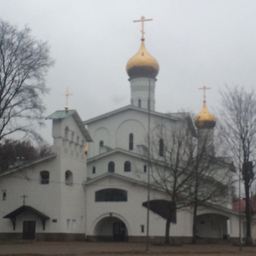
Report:
[[224,149],[233,154],[238,175],[242,174],[246,198],[246,243],[252,244],[250,187],[255,178],[256,160],[256,95],[243,87],[225,87],[221,91],[221,118],[218,136]]

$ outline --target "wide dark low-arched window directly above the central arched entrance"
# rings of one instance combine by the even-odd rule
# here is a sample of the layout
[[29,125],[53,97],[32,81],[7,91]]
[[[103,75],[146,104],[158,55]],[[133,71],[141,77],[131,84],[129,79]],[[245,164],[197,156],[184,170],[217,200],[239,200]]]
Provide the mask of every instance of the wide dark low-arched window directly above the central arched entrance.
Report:
[[125,202],[127,191],[123,189],[101,189],[95,192],[95,202]]

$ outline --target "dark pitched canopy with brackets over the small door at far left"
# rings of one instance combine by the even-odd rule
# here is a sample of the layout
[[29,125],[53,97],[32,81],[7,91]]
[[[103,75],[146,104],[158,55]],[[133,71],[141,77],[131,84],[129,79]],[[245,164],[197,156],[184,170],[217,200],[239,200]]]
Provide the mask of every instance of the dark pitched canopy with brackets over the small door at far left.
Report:
[[37,209],[28,206],[28,205],[23,205],[19,208],[17,208],[16,210],[10,212],[9,214],[3,216],[3,218],[9,218],[12,221],[12,225],[13,225],[13,230],[15,230],[15,224],[16,224],[16,217],[17,215],[20,215],[22,212],[25,211],[30,211],[35,213],[36,215],[38,215],[39,218],[41,218],[42,224],[43,224],[43,230],[45,229],[45,221],[49,219],[49,217],[47,215],[45,215],[44,213],[38,211]]

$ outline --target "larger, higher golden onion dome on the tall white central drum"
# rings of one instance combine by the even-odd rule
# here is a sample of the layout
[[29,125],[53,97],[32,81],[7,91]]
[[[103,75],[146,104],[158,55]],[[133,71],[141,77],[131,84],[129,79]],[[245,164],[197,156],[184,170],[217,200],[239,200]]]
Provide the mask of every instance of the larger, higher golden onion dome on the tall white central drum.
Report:
[[126,71],[130,78],[155,78],[157,76],[159,71],[158,62],[146,50],[143,39],[137,54],[130,58],[129,61],[127,62]]

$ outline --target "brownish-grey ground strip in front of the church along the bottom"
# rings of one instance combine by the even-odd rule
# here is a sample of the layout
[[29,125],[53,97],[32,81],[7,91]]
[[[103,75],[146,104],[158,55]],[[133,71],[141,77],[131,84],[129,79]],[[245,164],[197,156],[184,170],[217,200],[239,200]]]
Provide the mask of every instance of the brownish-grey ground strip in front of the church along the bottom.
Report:
[[143,243],[102,242],[12,242],[0,243],[0,256],[121,256],[121,255],[200,255],[200,256],[256,256],[256,247],[232,244],[186,244],[177,246],[149,245]]

